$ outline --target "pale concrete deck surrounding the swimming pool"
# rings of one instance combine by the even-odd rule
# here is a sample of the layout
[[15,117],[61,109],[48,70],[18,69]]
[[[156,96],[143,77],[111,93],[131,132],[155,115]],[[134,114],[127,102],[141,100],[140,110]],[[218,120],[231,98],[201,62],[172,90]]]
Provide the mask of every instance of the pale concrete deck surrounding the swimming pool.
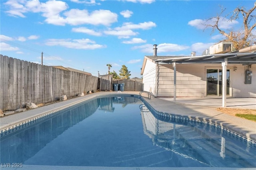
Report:
[[[24,122],[28,119],[32,119],[34,117],[38,117],[39,115],[43,115],[54,111],[56,109],[60,109],[64,106],[71,105],[73,103],[78,103],[85,101],[87,99],[91,99],[100,95],[108,95],[108,94],[116,94],[116,92],[98,92],[90,95],[85,95],[83,97],[76,97],[73,99],[68,99],[66,101],[62,101],[59,103],[54,103],[52,105],[47,105],[44,107],[39,107],[36,109],[31,109],[25,112],[16,113],[13,115],[9,115],[6,117],[0,118],[0,129],[4,129],[10,127],[12,125],[16,125],[20,122]],[[123,91],[122,94],[130,94],[130,95],[139,95],[139,92],[134,91]],[[248,121],[246,119],[233,117],[219,111],[216,111],[217,107],[221,107],[222,98],[220,97],[204,97],[204,98],[184,98],[177,97],[176,102],[173,101],[173,98],[155,98],[151,97],[151,99],[144,100],[149,103],[156,111],[163,112],[166,114],[179,115],[184,117],[191,117],[195,119],[205,120],[212,123],[216,123],[223,127],[226,127],[238,134],[242,134],[247,138],[250,138],[256,141],[256,122]],[[239,109],[256,109],[256,99],[255,98],[228,98],[227,99],[227,108],[239,108]],[[22,168],[7,168],[6,169],[91,169],[92,167],[77,167],[77,166],[33,166],[33,165],[23,165]],[[1,167],[1,169],[4,167]],[[5,168],[4,168],[5,169]],[[146,168],[146,167],[93,167],[93,169],[155,169],[155,168]],[[161,170],[170,169],[170,168],[157,168]],[[187,170],[187,169],[219,169],[219,168],[174,168],[179,170]],[[222,169],[254,169],[254,168],[222,168]]]

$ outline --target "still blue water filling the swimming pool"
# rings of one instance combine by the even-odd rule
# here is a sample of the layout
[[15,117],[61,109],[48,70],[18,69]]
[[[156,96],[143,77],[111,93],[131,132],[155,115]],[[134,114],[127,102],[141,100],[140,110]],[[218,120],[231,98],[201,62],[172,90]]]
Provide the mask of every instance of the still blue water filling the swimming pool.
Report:
[[135,97],[92,99],[0,142],[1,164],[256,167],[254,146],[205,125],[158,117]]

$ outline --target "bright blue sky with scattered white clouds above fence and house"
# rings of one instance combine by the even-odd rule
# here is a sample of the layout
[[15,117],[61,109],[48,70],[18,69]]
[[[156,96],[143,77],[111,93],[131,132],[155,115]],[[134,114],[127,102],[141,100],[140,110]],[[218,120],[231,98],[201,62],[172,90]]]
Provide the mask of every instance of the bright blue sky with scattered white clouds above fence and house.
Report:
[[[253,0],[0,0],[0,53],[44,65],[62,65],[94,76],[142,77],[144,55],[196,55],[222,40],[202,25],[226,8],[247,10]],[[255,14],[255,13],[254,13]],[[242,20],[222,18],[220,28],[239,30]]]

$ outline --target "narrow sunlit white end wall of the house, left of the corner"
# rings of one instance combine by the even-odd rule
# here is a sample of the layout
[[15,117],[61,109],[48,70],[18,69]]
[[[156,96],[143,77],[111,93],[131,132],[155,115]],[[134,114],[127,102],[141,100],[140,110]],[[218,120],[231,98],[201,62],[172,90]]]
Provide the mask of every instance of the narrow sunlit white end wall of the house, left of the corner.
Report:
[[156,64],[151,61],[146,61],[143,72],[144,91],[149,91],[156,95]]

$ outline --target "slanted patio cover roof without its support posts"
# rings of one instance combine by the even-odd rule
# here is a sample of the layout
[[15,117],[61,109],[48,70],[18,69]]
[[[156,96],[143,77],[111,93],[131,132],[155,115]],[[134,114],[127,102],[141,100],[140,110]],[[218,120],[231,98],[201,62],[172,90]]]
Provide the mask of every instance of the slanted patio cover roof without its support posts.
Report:
[[199,56],[145,56],[155,63],[171,64],[176,63],[222,63],[227,60],[232,64],[256,64],[256,51],[253,53],[222,53]]

